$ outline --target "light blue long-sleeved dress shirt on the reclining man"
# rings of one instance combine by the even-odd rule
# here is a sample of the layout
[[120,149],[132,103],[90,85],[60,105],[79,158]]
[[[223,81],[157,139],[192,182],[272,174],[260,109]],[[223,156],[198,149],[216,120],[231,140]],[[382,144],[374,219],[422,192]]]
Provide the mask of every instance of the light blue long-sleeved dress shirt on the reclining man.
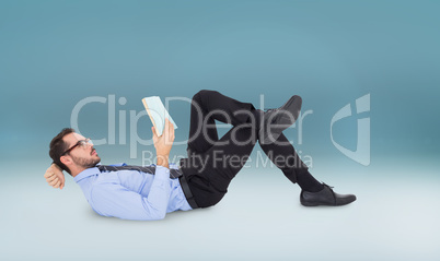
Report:
[[[170,168],[177,166],[171,163]],[[92,209],[103,216],[154,221],[170,212],[192,210],[178,179],[171,179],[170,169],[163,166],[155,166],[154,175],[138,170],[101,173],[93,167],[73,179]]]

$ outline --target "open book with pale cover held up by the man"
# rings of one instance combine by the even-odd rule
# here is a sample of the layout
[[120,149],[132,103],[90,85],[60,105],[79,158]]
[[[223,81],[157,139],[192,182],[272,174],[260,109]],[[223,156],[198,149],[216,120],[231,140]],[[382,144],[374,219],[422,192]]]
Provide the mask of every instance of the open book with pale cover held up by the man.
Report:
[[151,122],[153,122],[155,133],[158,137],[162,135],[163,129],[165,127],[165,118],[167,118],[171,123],[174,124],[174,129],[177,129],[177,124],[171,118],[169,111],[163,106],[162,100],[159,96],[151,96],[142,98],[143,106],[147,109],[148,116],[150,116]]

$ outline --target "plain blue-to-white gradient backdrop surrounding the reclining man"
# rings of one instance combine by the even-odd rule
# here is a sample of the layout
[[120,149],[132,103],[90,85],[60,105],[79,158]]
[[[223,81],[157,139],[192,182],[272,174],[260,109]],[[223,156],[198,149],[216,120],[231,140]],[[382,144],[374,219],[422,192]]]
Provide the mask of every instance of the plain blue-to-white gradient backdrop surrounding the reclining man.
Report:
[[[1,1],[0,258],[438,260],[439,8],[438,1]],[[358,202],[301,207],[298,187],[275,168],[254,167],[243,169],[216,207],[137,223],[96,216],[70,177],[62,191],[45,183],[48,143],[70,126],[81,99],[125,97],[125,105],[116,103],[118,123],[120,110],[127,119],[129,110],[142,111],[142,97],[190,98],[201,88],[256,107],[260,95],[264,107],[301,95],[303,111],[313,114],[297,150],[313,158],[312,174]],[[366,94],[371,111],[335,124],[334,138],[356,150],[357,119],[370,117],[368,167],[329,138],[334,114]],[[176,141],[184,141],[188,104],[173,104],[170,114],[180,127]],[[82,134],[108,139],[107,115],[107,104],[84,107]],[[142,117],[136,131],[147,140],[150,128]],[[126,129],[127,144],[116,128],[116,144],[96,147],[103,163],[141,164],[140,153],[153,150],[138,145],[139,157],[129,158],[128,122]],[[298,130],[286,135],[296,142]],[[175,145],[174,156],[185,149]],[[174,250],[170,238],[181,241]]]

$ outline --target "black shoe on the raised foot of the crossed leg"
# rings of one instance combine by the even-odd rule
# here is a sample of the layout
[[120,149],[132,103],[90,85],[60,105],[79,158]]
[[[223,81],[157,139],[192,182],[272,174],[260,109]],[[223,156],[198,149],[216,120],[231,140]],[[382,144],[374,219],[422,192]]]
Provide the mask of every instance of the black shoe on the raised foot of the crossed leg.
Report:
[[268,109],[264,112],[258,139],[263,144],[275,142],[283,130],[289,128],[300,115],[302,99],[293,95],[289,100],[278,109]]

